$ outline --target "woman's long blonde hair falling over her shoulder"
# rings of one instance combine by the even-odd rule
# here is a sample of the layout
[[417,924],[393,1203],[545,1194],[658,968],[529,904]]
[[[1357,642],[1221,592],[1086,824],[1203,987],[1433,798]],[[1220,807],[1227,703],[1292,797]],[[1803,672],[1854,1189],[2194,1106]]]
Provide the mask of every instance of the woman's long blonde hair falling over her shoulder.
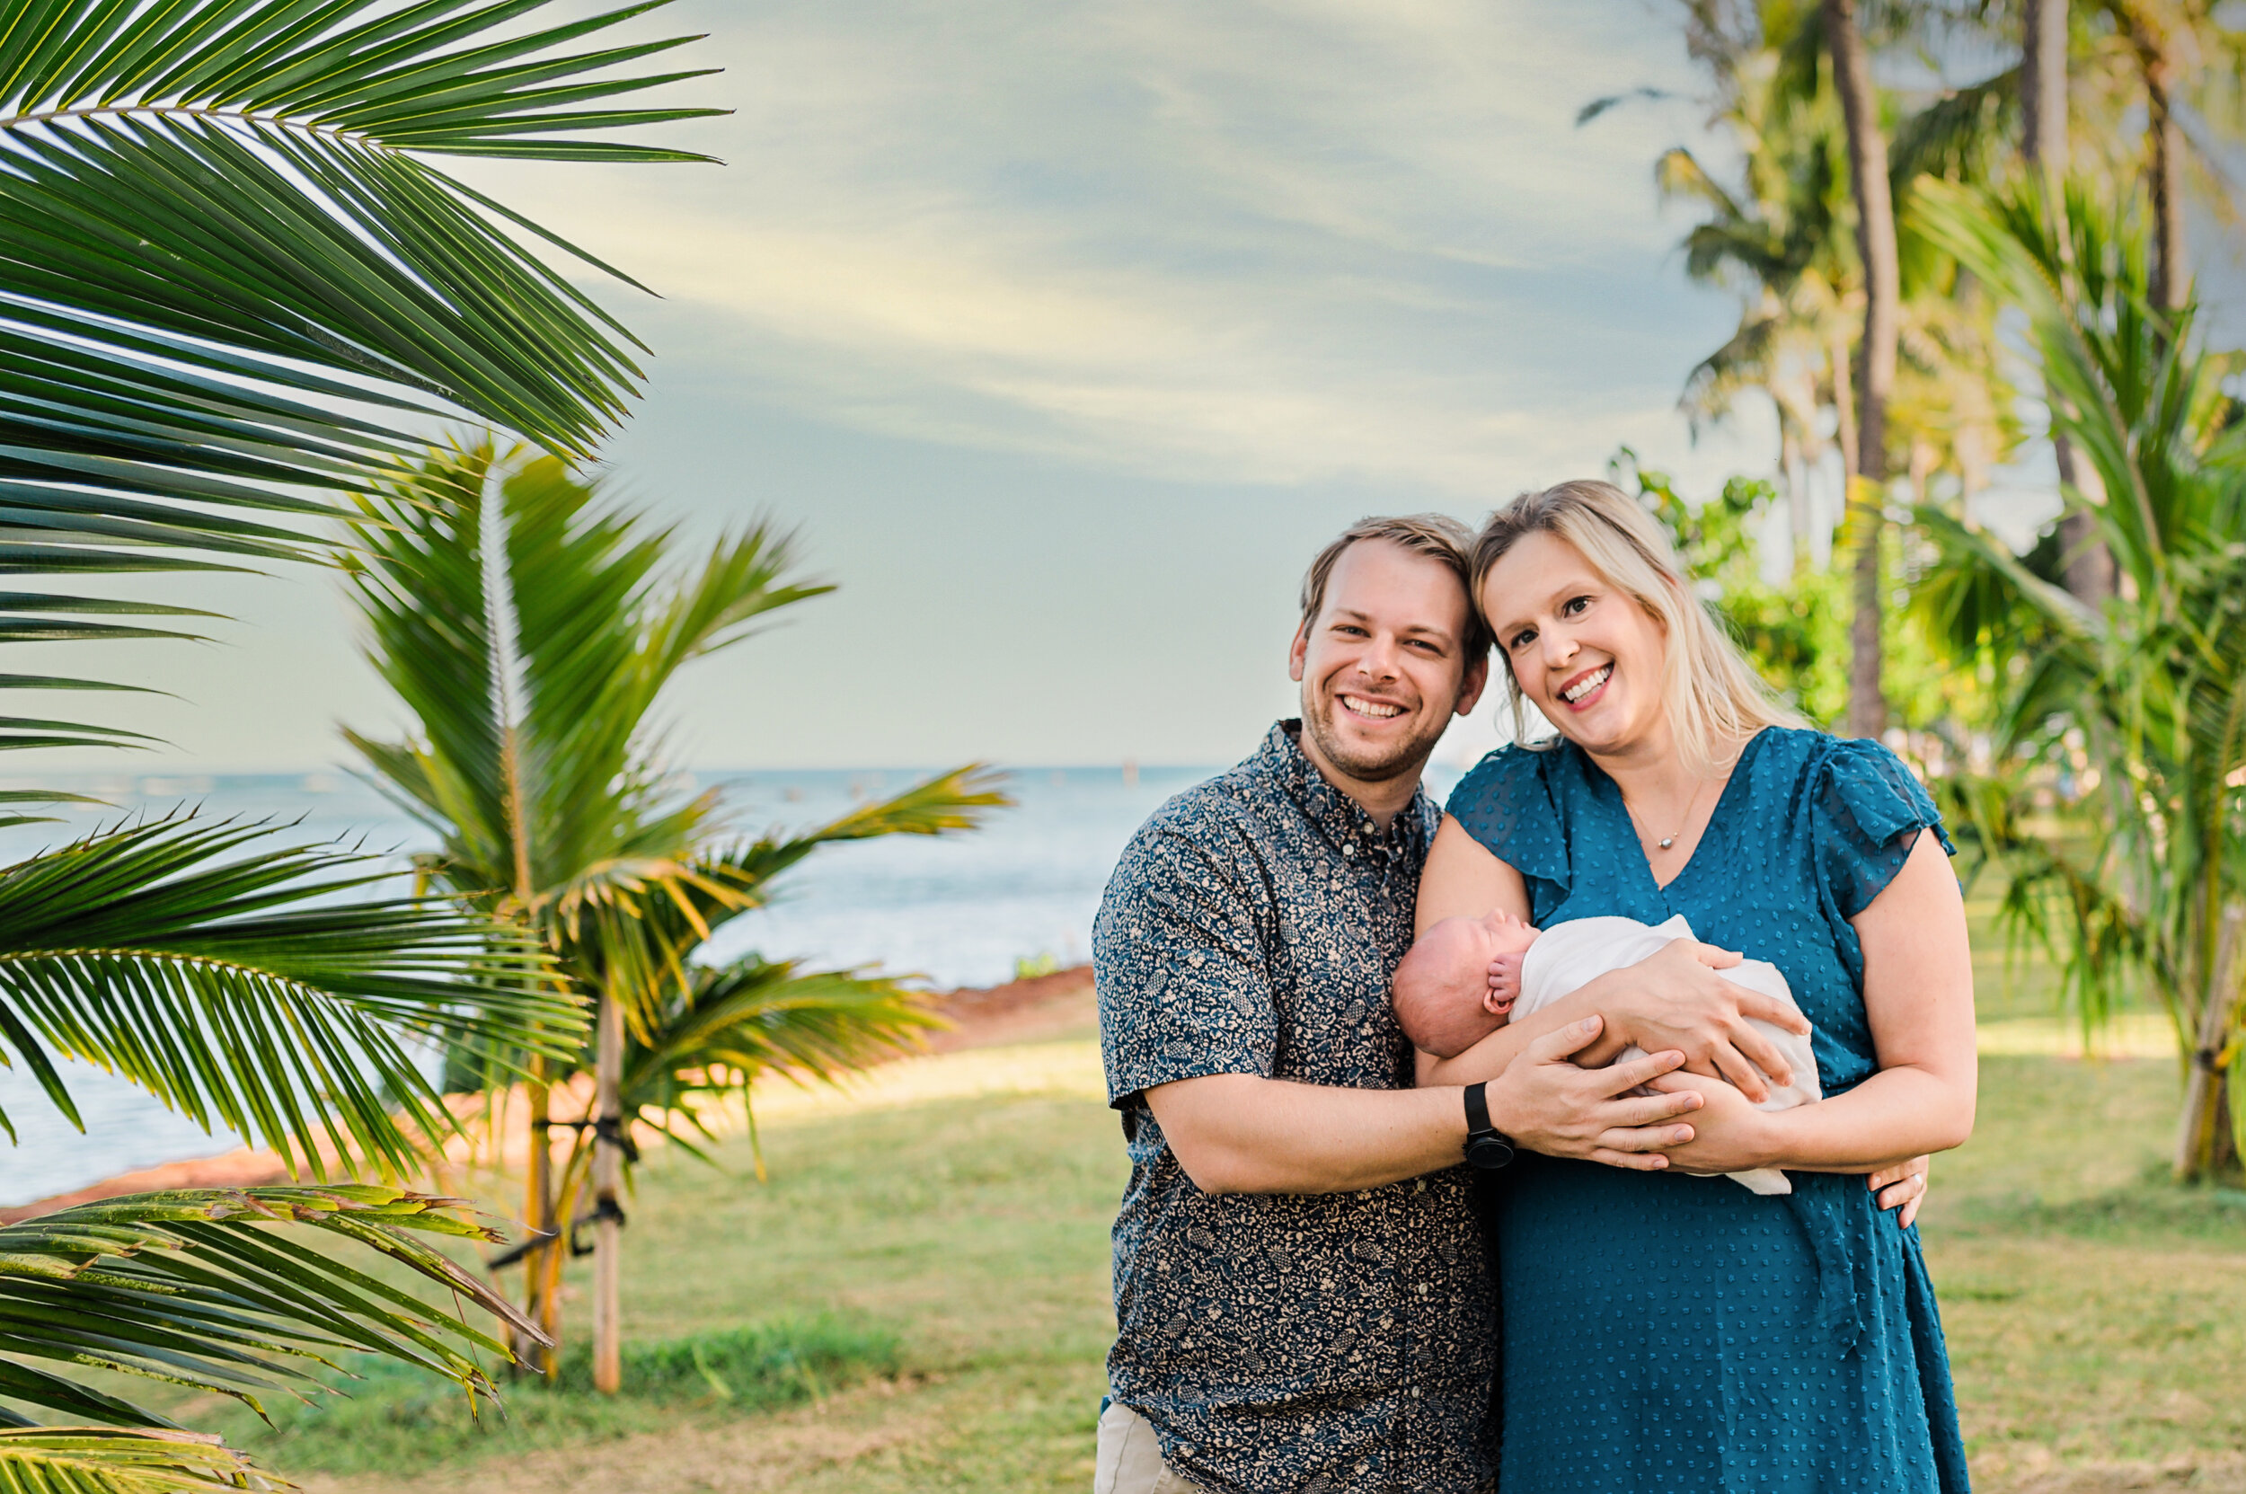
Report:
[[[1678,753],[1693,773],[1714,775],[1732,766],[1738,748],[1765,726],[1808,726],[1763,676],[1754,672],[1732,634],[1693,595],[1691,577],[1669,535],[1631,494],[1613,483],[1577,481],[1523,492],[1489,514],[1473,541],[1473,607],[1482,609],[1482,582],[1527,535],[1565,539],[1599,577],[1637,600],[1662,625],[1662,703]],[[1485,620],[1496,625],[1485,613]],[[1505,640],[1498,640],[1503,656]],[[1514,737],[1527,741],[1527,701],[1521,681],[1505,669],[1514,703]],[[1530,744],[1547,746],[1547,744]]]

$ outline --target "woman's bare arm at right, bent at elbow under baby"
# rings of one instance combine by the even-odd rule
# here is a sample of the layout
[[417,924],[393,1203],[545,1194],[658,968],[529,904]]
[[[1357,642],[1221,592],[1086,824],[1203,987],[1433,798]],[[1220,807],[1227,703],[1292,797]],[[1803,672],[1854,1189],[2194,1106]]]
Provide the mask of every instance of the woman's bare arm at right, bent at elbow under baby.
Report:
[[1705,1099],[1693,1114],[1698,1137],[1669,1150],[1673,1166],[1875,1173],[1972,1135],[1972,948],[1941,838],[1920,831],[1896,878],[1851,923],[1864,944],[1864,1015],[1880,1072],[1848,1094],[1777,1112],[1716,1094],[1720,1085],[1658,1078],[1655,1087],[1696,1087]]

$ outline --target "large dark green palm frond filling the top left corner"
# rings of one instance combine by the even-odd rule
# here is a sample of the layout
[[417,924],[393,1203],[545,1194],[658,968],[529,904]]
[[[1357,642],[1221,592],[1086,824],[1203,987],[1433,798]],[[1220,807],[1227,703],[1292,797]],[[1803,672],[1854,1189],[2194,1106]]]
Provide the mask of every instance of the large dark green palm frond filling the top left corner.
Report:
[[721,112],[593,108],[696,76],[577,49],[656,4],[0,0],[0,575],[321,557],[463,411],[586,454],[638,344],[544,256],[618,272],[431,157],[705,160],[586,137]]

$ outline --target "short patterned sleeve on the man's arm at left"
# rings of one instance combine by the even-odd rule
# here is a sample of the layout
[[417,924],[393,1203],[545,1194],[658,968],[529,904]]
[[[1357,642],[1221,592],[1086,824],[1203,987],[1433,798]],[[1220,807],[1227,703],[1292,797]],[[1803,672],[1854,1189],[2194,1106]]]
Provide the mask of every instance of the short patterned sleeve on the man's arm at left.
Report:
[[1123,851],[1092,923],[1110,1105],[1204,1074],[1271,1076],[1278,1013],[1251,883],[1170,831]]

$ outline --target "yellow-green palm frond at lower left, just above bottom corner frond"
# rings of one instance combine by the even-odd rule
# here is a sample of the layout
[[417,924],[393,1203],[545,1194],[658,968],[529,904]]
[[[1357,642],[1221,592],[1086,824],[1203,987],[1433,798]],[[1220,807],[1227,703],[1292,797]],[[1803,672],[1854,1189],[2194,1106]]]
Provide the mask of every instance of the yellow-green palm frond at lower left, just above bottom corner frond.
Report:
[[[416,1238],[496,1240],[460,1209],[371,1184],[218,1188],[124,1195],[0,1227],[0,1397],[175,1429],[72,1375],[186,1386],[263,1415],[265,1397],[328,1393],[314,1373],[335,1370],[337,1352],[382,1355],[492,1395],[476,1355],[510,1350],[460,1314],[476,1308],[539,1334],[490,1283]],[[449,1310],[348,1265],[353,1247],[433,1285]]]

